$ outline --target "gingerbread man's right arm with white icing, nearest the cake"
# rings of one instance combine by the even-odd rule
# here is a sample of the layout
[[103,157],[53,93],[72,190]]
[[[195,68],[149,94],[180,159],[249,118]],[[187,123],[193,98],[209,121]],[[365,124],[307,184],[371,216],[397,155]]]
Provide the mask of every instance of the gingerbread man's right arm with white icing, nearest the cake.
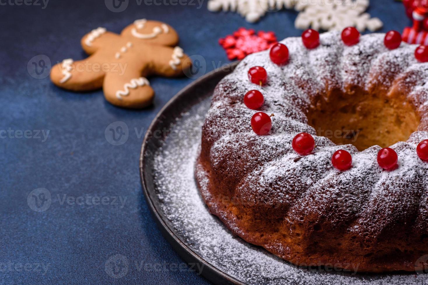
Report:
[[[147,47],[147,46],[146,46]],[[181,76],[192,66],[180,47],[149,46],[150,71],[159,76]]]

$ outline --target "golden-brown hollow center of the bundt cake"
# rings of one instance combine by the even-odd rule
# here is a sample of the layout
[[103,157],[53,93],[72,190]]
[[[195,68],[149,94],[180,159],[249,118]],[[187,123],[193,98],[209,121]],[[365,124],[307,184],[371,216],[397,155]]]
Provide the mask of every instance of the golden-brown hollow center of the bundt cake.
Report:
[[389,98],[356,91],[333,92],[328,102],[321,97],[309,110],[309,125],[318,136],[327,137],[336,145],[352,144],[359,151],[372,145],[388,147],[406,141],[420,123],[404,96]]

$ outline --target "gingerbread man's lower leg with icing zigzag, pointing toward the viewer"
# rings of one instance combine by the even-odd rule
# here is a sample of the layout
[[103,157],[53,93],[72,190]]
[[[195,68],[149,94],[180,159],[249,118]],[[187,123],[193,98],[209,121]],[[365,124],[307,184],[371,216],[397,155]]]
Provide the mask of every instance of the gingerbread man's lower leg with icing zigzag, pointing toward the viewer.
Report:
[[152,104],[155,91],[141,71],[109,72],[106,74],[103,90],[108,102],[122,108],[140,109]]

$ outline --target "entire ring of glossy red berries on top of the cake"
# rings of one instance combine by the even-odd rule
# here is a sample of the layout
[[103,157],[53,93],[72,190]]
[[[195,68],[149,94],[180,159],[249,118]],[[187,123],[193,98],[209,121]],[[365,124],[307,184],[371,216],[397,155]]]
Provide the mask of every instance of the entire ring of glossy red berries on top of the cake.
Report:
[[[354,27],[345,28],[342,31],[342,41],[347,46],[357,44],[360,40],[360,32]],[[319,33],[313,29],[307,29],[302,34],[303,45],[308,49],[314,49],[319,46]],[[389,31],[384,38],[384,44],[388,49],[396,49],[401,44],[401,35],[397,31]],[[423,48],[423,50],[419,50]],[[425,55],[426,53],[426,55]],[[284,44],[277,43],[273,45],[269,52],[270,60],[278,65],[286,64],[289,58],[288,48]],[[428,47],[418,47],[415,56],[419,61],[425,59],[428,61]],[[419,59],[418,56],[421,58]],[[424,62],[425,62],[424,61]],[[254,84],[262,86],[268,79],[268,73],[263,67],[251,67],[248,71],[248,78]],[[264,102],[263,94],[259,90],[250,90],[244,96],[244,104],[252,109],[257,110],[262,107]],[[251,118],[251,128],[258,135],[269,134],[272,128],[272,115],[264,112],[257,112]],[[297,134],[292,142],[294,151],[301,155],[308,155],[315,149],[315,140],[308,133]],[[423,140],[416,148],[419,158],[428,162],[428,140]],[[331,163],[336,169],[345,171],[352,166],[352,155],[343,149],[339,149],[333,154]],[[377,154],[377,163],[386,170],[393,170],[398,167],[398,155],[392,148],[382,148]]]

